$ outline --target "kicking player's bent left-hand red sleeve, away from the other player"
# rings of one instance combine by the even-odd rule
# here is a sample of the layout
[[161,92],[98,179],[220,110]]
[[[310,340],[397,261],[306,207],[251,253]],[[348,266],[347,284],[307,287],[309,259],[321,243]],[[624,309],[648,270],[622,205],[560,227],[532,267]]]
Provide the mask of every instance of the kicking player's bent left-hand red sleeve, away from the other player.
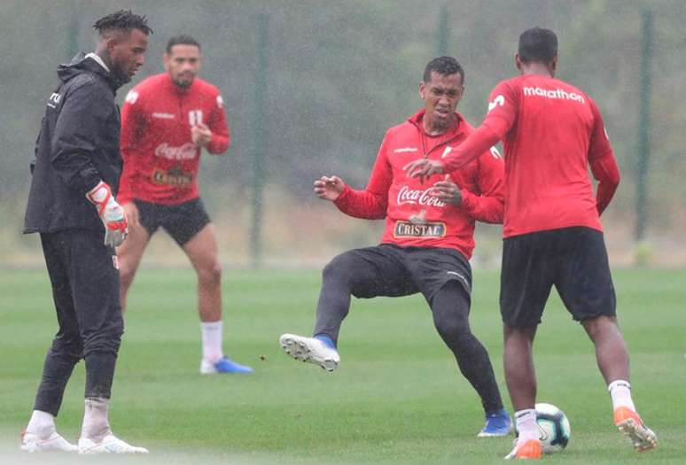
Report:
[[[387,134],[386,134],[387,136]],[[355,218],[381,220],[386,218],[388,190],[393,182],[393,167],[386,156],[386,138],[378,149],[378,156],[371,169],[370,181],[365,190],[354,190],[346,186],[333,203],[339,210]]]

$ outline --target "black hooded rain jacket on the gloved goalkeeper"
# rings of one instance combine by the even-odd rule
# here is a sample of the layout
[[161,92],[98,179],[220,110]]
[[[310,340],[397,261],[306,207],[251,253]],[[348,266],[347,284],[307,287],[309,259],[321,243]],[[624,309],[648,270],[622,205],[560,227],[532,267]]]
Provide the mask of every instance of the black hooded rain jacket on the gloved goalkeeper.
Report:
[[58,77],[35,143],[24,232],[103,231],[85,194],[100,180],[113,193],[119,187],[120,116],[114,96],[121,81],[83,53],[58,66]]

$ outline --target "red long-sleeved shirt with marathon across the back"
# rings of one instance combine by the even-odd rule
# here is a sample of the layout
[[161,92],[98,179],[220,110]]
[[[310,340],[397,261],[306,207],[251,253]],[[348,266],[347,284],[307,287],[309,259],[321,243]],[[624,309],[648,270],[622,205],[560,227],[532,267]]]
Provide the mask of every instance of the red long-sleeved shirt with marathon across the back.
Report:
[[[599,214],[620,173],[596,103],[573,85],[539,74],[500,82],[489,101],[481,126],[443,161],[450,172],[503,140],[503,236],[573,226],[603,230]],[[599,181],[597,198],[589,163]]]

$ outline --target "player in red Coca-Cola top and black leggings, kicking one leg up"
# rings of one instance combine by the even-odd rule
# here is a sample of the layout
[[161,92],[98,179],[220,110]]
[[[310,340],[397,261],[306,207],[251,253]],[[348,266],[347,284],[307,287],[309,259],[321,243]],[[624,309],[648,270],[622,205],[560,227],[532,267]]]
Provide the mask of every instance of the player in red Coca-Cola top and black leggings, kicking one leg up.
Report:
[[503,221],[503,159],[489,148],[468,166],[431,187],[402,170],[409,160],[440,159],[472,132],[456,112],[464,71],[455,58],[434,58],[419,93],[425,108],[388,129],[365,190],[337,176],[315,182],[315,193],[357,218],[386,218],[381,244],[340,254],[324,267],[314,337],[285,334],[280,344],[296,360],[331,371],[339,365],[339,329],[350,296],[399,297],[421,292],[440,337],[486,412],[480,437],[504,436],[510,416],[495,382],[488,353],[469,327],[474,222]]

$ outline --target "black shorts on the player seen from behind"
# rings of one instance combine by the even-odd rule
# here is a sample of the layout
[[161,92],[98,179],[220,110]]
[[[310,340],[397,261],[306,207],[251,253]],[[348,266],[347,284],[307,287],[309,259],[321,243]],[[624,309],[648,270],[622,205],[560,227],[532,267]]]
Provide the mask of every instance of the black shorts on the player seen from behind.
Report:
[[614,316],[616,298],[603,233],[573,227],[508,237],[503,242],[500,312],[513,328],[541,322],[553,284],[576,321]]

